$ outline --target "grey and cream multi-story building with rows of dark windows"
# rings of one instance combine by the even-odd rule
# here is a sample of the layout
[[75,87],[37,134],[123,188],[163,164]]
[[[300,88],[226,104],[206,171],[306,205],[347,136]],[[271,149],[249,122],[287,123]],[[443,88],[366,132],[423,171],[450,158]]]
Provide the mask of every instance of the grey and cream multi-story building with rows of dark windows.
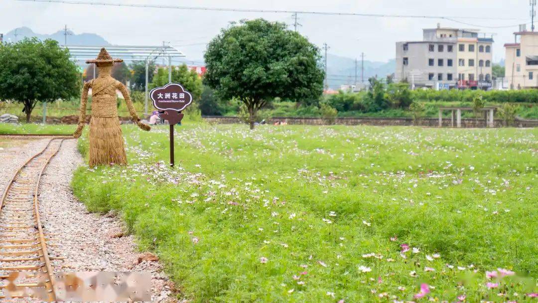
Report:
[[492,38],[437,25],[422,41],[396,43],[396,81],[435,89],[491,87]]

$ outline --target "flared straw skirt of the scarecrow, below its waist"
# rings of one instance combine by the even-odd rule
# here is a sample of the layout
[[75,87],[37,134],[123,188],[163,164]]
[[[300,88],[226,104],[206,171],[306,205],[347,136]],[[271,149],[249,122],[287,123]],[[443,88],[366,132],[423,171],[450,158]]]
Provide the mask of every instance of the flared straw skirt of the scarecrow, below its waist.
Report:
[[90,119],[89,166],[127,164],[118,117]]

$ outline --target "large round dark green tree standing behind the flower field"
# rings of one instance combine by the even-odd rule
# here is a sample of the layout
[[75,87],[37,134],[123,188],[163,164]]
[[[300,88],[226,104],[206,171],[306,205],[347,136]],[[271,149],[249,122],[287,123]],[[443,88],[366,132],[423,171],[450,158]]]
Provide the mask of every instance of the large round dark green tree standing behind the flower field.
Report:
[[205,83],[220,100],[241,100],[251,129],[258,110],[273,98],[297,102],[323,91],[319,49],[284,23],[231,23],[210,41],[204,59]]

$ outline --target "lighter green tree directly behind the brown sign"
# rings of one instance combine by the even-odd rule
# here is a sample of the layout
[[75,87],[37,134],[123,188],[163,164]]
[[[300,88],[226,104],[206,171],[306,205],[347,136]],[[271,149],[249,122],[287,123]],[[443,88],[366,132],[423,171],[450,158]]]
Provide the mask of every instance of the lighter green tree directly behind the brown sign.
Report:
[[[193,101],[200,99],[202,95],[202,80],[196,71],[191,71],[187,65],[183,64],[179,68],[172,69],[172,82],[181,84],[183,88],[193,95]],[[168,84],[168,68],[160,67],[149,84],[150,89],[162,87],[166,84]]]

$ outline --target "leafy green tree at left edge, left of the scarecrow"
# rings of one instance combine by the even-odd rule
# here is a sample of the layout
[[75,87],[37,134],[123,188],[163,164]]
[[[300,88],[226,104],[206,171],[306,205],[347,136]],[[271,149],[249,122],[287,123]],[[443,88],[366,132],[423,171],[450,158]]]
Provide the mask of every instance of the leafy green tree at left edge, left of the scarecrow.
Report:
[[80,94],[80,74],[54,40],[0,44],[0,99],[24,104],[26,122],[36,104]]

